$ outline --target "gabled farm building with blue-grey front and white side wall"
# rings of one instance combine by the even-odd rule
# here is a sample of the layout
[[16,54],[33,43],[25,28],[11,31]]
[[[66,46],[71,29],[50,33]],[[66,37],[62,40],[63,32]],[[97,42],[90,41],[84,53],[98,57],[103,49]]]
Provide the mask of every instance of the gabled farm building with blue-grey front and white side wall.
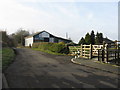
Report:
[[32,46],[32,44],[35,42],[69,43],[71,42],[71,40],[64,39],[61,37],[56,37],[47,31],[37,32],[35,34],[25,37],[25,46],[30,46],[30,45]]

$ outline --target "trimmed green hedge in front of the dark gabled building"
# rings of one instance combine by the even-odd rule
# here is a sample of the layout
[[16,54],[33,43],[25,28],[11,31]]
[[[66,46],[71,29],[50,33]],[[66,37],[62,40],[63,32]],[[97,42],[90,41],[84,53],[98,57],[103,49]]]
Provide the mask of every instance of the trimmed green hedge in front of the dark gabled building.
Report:
[[69,49],[63,42],[60,42],[60,43],[50,43],[50,42],[33,43],[32,48],[49,50],[49,51],[52,51],[55,53],[64,53],[64,54],[69,53]]

